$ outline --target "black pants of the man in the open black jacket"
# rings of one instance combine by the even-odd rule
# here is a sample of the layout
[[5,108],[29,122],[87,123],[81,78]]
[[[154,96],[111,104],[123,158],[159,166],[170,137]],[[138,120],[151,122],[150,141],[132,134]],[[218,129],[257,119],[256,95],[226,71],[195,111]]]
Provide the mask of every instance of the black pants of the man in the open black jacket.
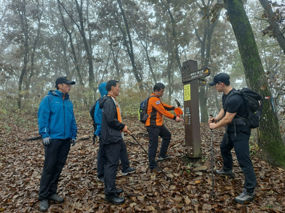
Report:
[[121,142],[104,144],[104,149],[107,155],[107,161],[104,172],[104,185],[106,195],[116,194],[116,175],[119,166]]

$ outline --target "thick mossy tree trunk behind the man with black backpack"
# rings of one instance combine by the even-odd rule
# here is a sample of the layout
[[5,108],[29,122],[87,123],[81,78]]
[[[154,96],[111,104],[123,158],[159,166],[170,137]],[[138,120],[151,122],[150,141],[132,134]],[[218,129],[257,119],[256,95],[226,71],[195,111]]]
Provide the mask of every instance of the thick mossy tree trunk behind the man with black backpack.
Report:
[[[243,3],[238,0],[224,0],[224,3],[241,54],[247,85],[264,98],[265,96],[271,97],[270,88]],[[278,119],[270,108],[270,103],[266,100],[264,100],[262,117],[260,127],[257,129],[258,146],[262,150],[260,157],[274,166],[285,167],[285,146],[281,139]]]

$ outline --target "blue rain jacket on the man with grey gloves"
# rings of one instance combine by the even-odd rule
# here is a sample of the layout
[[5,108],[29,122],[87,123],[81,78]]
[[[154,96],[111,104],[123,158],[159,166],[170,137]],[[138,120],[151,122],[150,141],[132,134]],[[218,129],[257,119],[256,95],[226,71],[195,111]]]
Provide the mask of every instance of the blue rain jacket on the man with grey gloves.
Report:
[[38,127],[42,138],[76,139],[77,127],[73,104],[66,94],[50,90],[38,108]]

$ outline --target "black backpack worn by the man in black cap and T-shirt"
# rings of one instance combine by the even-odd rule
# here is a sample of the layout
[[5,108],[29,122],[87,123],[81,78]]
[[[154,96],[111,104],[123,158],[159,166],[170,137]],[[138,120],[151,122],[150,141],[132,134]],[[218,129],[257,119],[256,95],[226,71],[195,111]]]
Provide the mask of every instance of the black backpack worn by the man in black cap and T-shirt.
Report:
[[[259,93],[244,87],[240,90],[231,92],[229,96],[227,96],[225,103],[227,99],[231,97],[233,94],[240,94],[243,97],[243,102],[245,103],[245,109],[248,113],[247,117],[245,118],[239,115],[236,116],[242,118],[245,121],[245,123],[249,125],[251,129],[259,127],[259,121],[261,118],[262,108],[263,108],[262,96]],[[225,107],[223,108],[226,109]]]

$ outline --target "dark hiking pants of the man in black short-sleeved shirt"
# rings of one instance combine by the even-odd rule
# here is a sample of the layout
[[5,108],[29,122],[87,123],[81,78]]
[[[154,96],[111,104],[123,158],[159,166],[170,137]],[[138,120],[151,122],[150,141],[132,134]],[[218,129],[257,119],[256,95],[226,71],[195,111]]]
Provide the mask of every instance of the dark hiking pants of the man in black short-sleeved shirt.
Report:
[[237,156],[239,166],[245,175],[244,188],[247,189],[249,193],[253,193],[256,186],[256,177],[249,155],[249,137],[251,135],[251,129],[247,125],[241,127],[237,126],[237,137],[235,137],[234,127],[229,126],[226,133],[224,134],[220,145],[224,161],[223,169],[225,171],[233,169],[233,156],[231,154],[231,150],[235,148],[235,154]]

